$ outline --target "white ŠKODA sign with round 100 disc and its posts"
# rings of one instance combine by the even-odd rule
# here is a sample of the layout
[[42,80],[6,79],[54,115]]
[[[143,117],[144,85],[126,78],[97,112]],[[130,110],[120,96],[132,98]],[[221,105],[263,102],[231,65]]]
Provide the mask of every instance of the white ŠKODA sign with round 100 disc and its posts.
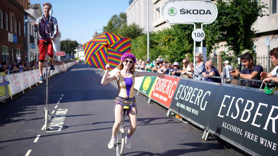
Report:
[[[200,30],[203,31],[203,24],[210,24],[216,20],[218,10],[216,5],[210,0],[168,0],[165,1],[160,7],[160,13],[162,15],[163,20],[165,20],[165,22],[168,23],[193,24],[194,31],[196,30],[195,23],[202,23]],[[195,33],[194,31],[192,32],[192,35]],[[197,37],[198,41],[201,39],[200,37]],[[205,32],[203,32],[203,37],[205,38]],[[203,39],[201,40],[201,47],[203,47]],[[195,65],[196,41],[197,40],[194,40],[194,49],[193,49],[194,65]]]

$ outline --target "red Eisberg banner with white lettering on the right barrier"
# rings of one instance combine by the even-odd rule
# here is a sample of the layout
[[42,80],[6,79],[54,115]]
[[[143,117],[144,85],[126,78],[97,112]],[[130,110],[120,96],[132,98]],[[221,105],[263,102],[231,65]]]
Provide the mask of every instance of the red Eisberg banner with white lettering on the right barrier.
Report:
[[179,83],[179,78],[165,76],[156,78],[152,89],[151,99],[169,109],[175,90]]

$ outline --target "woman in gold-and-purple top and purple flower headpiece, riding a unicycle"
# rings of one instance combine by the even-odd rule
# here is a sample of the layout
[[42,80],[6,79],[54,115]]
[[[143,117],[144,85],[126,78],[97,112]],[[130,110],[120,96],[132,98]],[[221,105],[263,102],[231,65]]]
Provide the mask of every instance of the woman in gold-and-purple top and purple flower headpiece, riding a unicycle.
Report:
[[135,77],[141,76],[158,76],[165,78],[161,73],[155,72],[139,72],[135,70],[136,57],[132,53],[125,53],[121,57],[121,62],[117,68],[109,72],[110,65],[105,66],[106,71],[101,80],[101,84],[105,85],[115,80],[118,84],[118,95],[114,102],[115,123],[112,128],[112,137],[108,143],[108,148],[113,149],[116,144],[117,134],[122,120],[123,105],[128,105],[129,110],[126,113],[130,121],[130,128],[126,131],[126,145],[125,148],[130,149],[130,137],[134,134],[137,125],[137,103],[134,96],[133,87],[135,84]]

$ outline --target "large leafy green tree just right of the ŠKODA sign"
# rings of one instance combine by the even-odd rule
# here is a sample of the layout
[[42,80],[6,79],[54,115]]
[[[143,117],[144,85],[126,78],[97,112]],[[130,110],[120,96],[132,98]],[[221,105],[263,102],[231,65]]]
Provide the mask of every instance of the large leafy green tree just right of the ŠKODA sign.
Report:
[[266,5],[260,0],[218,0],[216,6],[216,20],[204,26],[207,51],[211,52],[220,41],[227,41],[226,46],[235,55],[245,49],[254,51],[255,30],[252,25],[258,17],[264,16]]

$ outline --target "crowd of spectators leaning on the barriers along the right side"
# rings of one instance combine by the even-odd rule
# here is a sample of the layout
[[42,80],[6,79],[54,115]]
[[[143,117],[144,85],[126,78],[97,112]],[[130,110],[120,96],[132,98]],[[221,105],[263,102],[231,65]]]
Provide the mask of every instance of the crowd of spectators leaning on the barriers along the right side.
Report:
[[[223,72],[221,77],[224,80],[228,78],[242,78],[242,79],[252,79],[252,80],[262,80],[263,83],[278,82],[278,47],[272,49],[269,52],[270,61],[273,63],[275,68],[267,73],[263,71],[261,65],[255,65],[254,59],[251,53],[244,53],[240,57],[240,61],[243,65],[243,70],[239,71],[237,68],[232,68],[228,60],[223,62]],[[186,78],[193,78],[198,80],[204,80],[209,82],[221,83],[220,73],[213,66],[212,61],[204,62],[204,57],[202,53],[195,54],[195,65],[189,63],[188,59],[183,59],[180,65],[179,62],[165,61],[161,58],[157,58],[156,61],[151,62],[147,59],[144,62],[142,59],[136,61],[136,68],[145,70],[148,72],[159,72],[167,75],[182,76]],[[216,78],[217,76],[218,78]],[[226,84],[230,84],[231,80],[228,79]],[[248,81],[248,87],[260,88],[261,82]]]

